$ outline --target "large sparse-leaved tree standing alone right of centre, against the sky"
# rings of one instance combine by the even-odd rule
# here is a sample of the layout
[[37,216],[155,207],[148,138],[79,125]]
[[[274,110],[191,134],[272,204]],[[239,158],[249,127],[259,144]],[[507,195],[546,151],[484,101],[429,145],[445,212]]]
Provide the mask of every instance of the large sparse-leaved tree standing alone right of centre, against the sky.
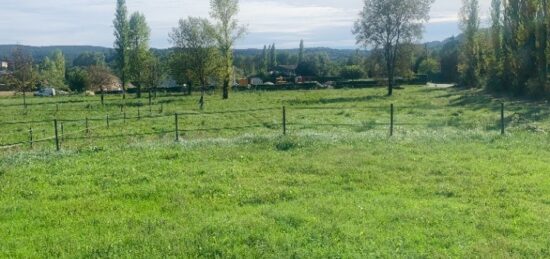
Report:
[[363,11],[355,22],[357,43],[382,48],[388,75],[388,95],[393,93],[395,65],[402,44],[422,37],[434,0],[364,0]]

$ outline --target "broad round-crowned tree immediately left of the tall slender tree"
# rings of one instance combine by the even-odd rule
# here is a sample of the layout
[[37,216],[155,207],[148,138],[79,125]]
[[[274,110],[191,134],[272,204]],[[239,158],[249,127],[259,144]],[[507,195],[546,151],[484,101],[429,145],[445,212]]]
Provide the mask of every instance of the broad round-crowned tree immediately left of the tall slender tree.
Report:
[[[177,54],[185,59],[185,74],[201,85],[200,107],[204,105],[204,93],[208,76],[217,73],[218,53],[213,27],[208,20],[189,17],[181,19],[172,30],[170,40]],[[181,68],[178,68],[181,69]]]

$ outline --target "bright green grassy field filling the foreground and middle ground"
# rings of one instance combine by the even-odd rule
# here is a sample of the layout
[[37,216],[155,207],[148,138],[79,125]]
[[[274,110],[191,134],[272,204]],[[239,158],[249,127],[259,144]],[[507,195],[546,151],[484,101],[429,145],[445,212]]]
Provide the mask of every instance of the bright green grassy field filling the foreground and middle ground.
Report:
[[0,143],[48,138],[54,118],[76,132],[61,152],[0,150],[0,257],[550,257],[548,103],[423,87],[196,101],[0,99]]

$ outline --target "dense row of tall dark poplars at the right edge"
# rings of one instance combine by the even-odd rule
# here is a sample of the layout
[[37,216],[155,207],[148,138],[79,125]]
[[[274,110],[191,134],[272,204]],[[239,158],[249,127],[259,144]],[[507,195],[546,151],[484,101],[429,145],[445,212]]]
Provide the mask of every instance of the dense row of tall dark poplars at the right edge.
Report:
[[520,96],[550,93],[549,11],[547,0],[492,0],[491,25],[480,29],[478,0],[464,0],[461,84]]

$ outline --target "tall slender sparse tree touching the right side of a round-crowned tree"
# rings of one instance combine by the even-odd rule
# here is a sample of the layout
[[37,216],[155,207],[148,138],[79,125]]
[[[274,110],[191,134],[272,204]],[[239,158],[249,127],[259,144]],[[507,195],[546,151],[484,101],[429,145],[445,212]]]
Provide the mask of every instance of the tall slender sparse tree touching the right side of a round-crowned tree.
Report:
[[229,99],[229,83],[233,75],[233,47],[235,42],[246,33],[239,26],[239,0],[210,0],[210,16],[216,21],[214,36],[223,60],[221,79],[223,81],[223,99]]

